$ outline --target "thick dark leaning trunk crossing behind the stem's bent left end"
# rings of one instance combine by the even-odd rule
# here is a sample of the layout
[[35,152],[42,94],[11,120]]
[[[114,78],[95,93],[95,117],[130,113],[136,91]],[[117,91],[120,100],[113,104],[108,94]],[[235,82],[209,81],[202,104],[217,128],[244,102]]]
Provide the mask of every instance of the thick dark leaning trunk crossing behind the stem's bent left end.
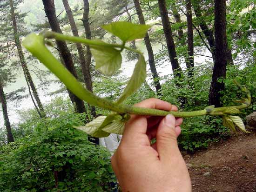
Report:
[[[55,7],[54,7],[54,0],[43,0],[44,4],[44,10],[47,15],[49,24],[54,32],[62,33],[61,27],[58,23],[56,13],[55,13]],[[74,63],[71,57],[71,53],[69,52],[67,48],[67,44],[64,41],[56,40],[56,44],[58,46],[61,58],[64,62],[64,65],[67,67],[67,70],[74,75],[75,78],[77,78],[77,74],[74,68]],[[86,112],[86,108],[84,105],[84,102],[79,99],[77,96],[75,96],[73,93],[69,93],[69,97],[72,101],[72,103],[76,106],[76,111],[78,113],[84,113]]]

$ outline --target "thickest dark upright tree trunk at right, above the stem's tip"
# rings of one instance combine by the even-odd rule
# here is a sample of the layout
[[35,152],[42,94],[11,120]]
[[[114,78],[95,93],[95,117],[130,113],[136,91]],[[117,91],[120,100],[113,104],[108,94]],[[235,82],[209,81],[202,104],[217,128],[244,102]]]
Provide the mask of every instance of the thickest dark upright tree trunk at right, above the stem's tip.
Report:
[[215,0],[215,40],[216,55],[213,67],[211,87],[209,91],[209,105],[216,107],[221,104],[221,91],[224,90],[224,82],[218,82],[220,78],[226,78],[226,66],[228,60],[228,42],[226,34],[226,0]]

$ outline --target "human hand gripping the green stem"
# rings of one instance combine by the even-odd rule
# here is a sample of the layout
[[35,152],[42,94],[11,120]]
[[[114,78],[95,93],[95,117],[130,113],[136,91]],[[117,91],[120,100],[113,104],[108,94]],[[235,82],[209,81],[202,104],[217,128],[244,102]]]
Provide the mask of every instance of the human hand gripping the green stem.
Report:
[[[176,111],[160,99],[147,99],[138,107]],[[149,117],[132,115],[112,166],[123,192],[190,192],[189,172],[177,145],[182,119],[173,115]],[[150,140],[156,143],[150,145]]]

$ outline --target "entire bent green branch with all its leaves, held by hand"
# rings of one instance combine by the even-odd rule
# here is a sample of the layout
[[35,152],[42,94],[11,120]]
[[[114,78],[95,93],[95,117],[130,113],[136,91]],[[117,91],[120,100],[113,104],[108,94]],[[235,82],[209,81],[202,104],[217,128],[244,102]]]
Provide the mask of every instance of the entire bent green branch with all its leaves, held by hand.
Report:
[[[76,127],[94,137],[106,137],[110,133],[122,134],[125,122],[129,119],[129,114],[150,115],[150,116],[166,116],[172,114],[175,117],[194,117],[200,115],[222,116],[224,126],[235,130],[235,125],[242,131],[245,130],[243,121],[233,114],[240,113],[240,110],[246,108],[251,103],[249,91],[238,84],[236,85],[247,94],[247,98],[240,106],[228,106],[215,108],[208,106],[200,111],[193,112],[167,112],[158,109],[141,108],[125,105],[122,102],[133,94],[144,82],[146,78],[146,61],[143,54],[135,49],[125,46],[127,41],[141,39],[150,28],[148,25],[137,25],[129,22],[113,22],[109,25],[102,26],[109,33],[114,34],[122,40],[122,44],[109,44],[101,40],[88,40],[75,36],[67,36],[60,33],[43,31],[40,34],[32,33],[23,40],[23,46],[27,48],[41,63],[54,73],[77,97],[86,101],[90,105],[108,109],[113,113],[108,116],[100,116],[88,123],[86,126]],[[64,67],[54,55],[47,49],[46,45],[52,45],[49,39],[63,40],[70,42],[80,42],[91,47],[96,69],[99,69],[106,75],[112,75],[120,67],[122,62],[121,52],[128,49],[139,54],[139,59],[135,65],[134,72],[128,81],[121,97],[113,102],[108,99],[100,98],[89,92],[78,80]]]

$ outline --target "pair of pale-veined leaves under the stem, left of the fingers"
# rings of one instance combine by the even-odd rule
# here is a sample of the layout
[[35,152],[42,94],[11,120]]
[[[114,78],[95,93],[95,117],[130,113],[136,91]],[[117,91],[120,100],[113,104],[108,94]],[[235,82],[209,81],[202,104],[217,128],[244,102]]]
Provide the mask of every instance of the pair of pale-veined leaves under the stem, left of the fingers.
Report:
[[110,133],[122,134],[125,122],[128,118],[123,118],[119,114],[99,116],[85,126],[75,127],[93,137],[108,137]]

